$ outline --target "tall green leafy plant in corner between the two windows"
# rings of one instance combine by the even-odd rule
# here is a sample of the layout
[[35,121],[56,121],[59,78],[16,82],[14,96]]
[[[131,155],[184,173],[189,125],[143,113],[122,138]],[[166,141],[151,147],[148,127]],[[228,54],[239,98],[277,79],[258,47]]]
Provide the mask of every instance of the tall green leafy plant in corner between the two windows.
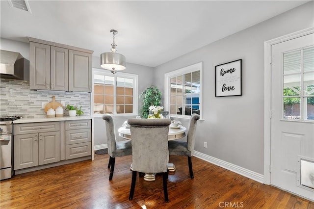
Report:
[[150,106],[160,106],[161,104],[161,92],[157,86],[148,87],[139,97],[143,99],[142,109],[140,110],[142,118],[148,118]]

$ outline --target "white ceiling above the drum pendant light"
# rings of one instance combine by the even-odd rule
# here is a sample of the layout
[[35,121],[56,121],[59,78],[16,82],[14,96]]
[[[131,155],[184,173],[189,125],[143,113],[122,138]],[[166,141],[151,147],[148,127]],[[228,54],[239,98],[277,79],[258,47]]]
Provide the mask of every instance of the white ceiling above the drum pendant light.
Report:
[[94,51],[117,52],[128,63],[156,67],[308,1],[29,0],[30,12],[0,1],[0,37],[27,36]]

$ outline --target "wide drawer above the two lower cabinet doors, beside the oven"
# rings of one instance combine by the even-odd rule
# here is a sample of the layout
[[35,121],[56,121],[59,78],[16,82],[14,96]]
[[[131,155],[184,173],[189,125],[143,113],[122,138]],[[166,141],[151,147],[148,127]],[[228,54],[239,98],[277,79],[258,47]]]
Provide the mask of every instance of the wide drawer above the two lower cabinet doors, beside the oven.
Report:
[[13,125],[14,135],[60,131],[60,122],[22,123]]

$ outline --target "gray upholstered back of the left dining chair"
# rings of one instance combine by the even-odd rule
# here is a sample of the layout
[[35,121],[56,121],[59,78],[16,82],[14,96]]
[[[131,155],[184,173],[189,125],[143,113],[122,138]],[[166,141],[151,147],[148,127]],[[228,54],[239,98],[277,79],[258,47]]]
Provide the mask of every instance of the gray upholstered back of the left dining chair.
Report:
[[103,120],[105,120],[105,125],[106,125],[108,154],[111,157],[114,157],[113,152],[117,149],[117,145],[116,145],[116,133],[115,133],[113,119],[109,114],[104,114]]

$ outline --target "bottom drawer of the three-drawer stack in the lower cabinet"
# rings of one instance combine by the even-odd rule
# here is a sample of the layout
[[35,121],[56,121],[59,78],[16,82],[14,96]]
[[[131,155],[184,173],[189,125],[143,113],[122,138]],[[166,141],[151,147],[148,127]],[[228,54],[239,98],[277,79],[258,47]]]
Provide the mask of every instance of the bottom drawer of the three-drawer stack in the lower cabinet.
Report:
[[65,146],[65,159],[90,156],[91,154],[92,154],[91,142],[84,142]]

